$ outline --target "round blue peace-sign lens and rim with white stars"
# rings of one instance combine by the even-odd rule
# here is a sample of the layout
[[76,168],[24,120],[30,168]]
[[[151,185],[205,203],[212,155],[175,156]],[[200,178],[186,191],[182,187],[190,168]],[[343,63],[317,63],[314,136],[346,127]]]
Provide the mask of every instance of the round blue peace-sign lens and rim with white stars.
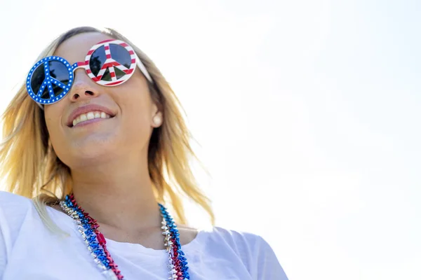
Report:
[[69,64],[57,56],[45,57],[32,67],[27,76],[29,96],[39,104],[59,102],[73,84],[77,63]]

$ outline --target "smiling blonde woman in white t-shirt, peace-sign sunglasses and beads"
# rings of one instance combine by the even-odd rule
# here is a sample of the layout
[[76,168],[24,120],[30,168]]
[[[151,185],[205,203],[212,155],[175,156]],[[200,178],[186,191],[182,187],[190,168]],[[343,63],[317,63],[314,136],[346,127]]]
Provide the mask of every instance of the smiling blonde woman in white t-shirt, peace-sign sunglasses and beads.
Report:
[[261,237],[185,225],[182,195],[213,212],[178,99],[116,31],[53,41],[3,125],[1,280],[286,279]]

